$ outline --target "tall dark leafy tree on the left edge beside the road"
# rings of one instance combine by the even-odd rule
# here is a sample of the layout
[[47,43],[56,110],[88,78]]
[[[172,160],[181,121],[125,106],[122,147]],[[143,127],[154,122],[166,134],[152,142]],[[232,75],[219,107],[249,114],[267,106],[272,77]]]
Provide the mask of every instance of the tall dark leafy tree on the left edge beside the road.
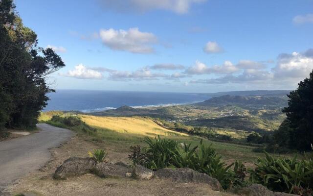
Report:
[[37,35],[22,24],[12,0],[0,0],[0,128],[32,127],[54,92],[45,77],[64,67],[52,49],[37,46]]

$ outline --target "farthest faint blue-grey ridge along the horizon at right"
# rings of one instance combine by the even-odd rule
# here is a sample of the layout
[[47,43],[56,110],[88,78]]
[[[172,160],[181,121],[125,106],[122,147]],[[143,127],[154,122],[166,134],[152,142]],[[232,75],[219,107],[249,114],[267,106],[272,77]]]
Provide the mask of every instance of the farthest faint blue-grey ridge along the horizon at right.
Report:
[[218,92],[218,93],[205,93],[207,96],[218,97],[223,95],[231,96],[286,96],[291,90],[257,90],[257,91],[228,91],[228,92]]

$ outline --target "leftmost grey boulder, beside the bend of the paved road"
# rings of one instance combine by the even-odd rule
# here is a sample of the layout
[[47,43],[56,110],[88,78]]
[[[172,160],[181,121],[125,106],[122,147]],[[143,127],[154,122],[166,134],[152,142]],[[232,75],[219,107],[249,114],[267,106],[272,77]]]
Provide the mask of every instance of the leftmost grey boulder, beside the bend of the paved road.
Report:
[[95,161],[90,157],[71,157],[58,167],[54,172],[53,178],[67,179],[70,176],[82,175],[88,173],[95,164]]

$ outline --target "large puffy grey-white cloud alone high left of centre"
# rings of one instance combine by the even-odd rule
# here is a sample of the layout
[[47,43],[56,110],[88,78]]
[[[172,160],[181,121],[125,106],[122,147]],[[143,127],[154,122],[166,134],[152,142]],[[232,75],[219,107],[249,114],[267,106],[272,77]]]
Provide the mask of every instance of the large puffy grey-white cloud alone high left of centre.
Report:
[[152,44],[157,42],[153,33],[140,32],[138,28],[129,30],[101,29],[102,43],[113,50],[123,50],[133,53],[152,53]]

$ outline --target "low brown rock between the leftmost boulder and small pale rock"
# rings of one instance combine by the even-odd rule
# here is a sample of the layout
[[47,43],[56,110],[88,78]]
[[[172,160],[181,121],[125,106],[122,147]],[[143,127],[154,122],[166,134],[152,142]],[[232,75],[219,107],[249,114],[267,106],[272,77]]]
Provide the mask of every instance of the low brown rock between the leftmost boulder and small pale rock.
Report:
[[132,169],[121,164],[98,163],[91,172],[100,177],[129,177],[127,173],[131,173]]

